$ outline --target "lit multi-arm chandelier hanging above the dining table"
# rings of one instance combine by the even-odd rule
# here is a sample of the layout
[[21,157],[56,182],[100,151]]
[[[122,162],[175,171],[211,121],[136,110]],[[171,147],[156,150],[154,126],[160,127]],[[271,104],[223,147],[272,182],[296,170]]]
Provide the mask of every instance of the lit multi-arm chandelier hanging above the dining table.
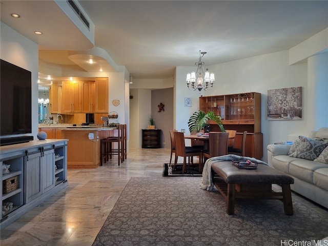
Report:
[[[198,89],[200,93],[201,89],[204,89],[206,91],[206,90],[211,90],[213,87],[213,83],[215,81],[214,73],[210,74],[209,70],[206,69],[206,72],[204,74],[203,67],[202,67],[204,65],[204,62],[201,61],[201,58],[206,53],[207,52],[199,51],[199,61],[195,63],[195,65],[197,66],[196,73],[192,72],[187,74],[186,81],[189,90],[195,91],[196,89]],[[198,76],[197,78],[196,78],[196,74]],[[204,78],[202,76],[204,76]]]

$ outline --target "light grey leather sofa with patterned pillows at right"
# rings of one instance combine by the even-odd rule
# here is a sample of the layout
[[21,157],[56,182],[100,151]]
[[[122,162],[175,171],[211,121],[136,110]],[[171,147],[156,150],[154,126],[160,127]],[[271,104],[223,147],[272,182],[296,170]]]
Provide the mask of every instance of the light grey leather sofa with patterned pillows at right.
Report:
[[268,164],[295,182],[291,189],[328,208],[328,128],[300,136],[293,145],[268,145]]

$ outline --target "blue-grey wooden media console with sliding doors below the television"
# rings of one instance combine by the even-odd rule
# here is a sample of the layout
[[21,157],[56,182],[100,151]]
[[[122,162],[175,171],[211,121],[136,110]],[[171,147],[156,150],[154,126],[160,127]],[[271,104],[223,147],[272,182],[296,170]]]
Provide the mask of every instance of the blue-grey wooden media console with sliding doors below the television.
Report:
[[1,146],[3,164],[10,167],[9,173],[0,169],[0,199],[3,206],[9,205],[1,215],[1,229],[68,186],[67,140]]

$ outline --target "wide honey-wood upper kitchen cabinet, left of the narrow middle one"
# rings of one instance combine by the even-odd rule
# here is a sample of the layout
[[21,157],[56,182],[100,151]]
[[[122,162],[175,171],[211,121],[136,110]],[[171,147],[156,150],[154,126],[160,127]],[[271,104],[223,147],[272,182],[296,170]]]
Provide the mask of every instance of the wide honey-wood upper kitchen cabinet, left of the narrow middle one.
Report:
[[81,113],[82,84],[79,81],[63,81],[61,111]]

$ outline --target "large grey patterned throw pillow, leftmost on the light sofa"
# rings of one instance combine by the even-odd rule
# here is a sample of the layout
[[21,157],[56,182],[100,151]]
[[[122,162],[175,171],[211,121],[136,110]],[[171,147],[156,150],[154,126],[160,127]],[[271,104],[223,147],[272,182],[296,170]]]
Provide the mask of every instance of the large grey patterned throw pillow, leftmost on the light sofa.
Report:
[[299,142],[291,147],[289,156],[314,160],[328,146],[328,141],[317,141],[308,137],[299,136]]

